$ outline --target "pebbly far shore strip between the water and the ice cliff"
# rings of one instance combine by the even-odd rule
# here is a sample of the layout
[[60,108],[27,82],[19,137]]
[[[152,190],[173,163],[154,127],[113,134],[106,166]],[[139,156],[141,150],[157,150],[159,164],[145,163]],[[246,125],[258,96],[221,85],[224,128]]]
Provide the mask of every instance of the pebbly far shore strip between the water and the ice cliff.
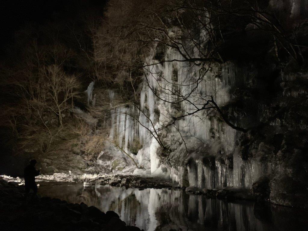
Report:
[[[18,186],[23,184],[22,178],[14,178],[10,176],[2,176],[9,184]],[[38,183],[40,181],[56,181],[56,182],[86,182],[89,184],[111,185],[115,187],[125,188],[175,188],[185,190],[188,194],[205,195],[207,198],[217,198],[226,201],[268,201],[269,192],[264,180],[259,180],[253,184],[252,189],[248,188],[197,188],[197,187],[179,187],[178,184],[171,180],[154,178],[149,176],[137,175],[107,175],[107,174],[83,174],[74,175],[67,173],[54,173],[53,175],[39,175],[36,177]],[[275,204],[275,203],[274,203]],[[292,206],[291,206],[292,207]],[[299,206],[300,207],[300,206]]]

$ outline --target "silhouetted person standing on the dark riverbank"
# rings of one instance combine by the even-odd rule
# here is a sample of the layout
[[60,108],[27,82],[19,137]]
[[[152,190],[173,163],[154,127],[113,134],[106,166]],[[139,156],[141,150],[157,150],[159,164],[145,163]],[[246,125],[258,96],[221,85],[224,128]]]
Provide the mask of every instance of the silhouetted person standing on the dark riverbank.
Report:
[[35,183],[35,176],[39,176],[39,170],[35,169],[36,163],[37,163],[36,160],[30,160],[30,164],[24,170],[25,188],[26,188],[25,199],[27,199],[30,189],[33,190],[32,198],[36,196],[36,193],[38,191],[38,187]]

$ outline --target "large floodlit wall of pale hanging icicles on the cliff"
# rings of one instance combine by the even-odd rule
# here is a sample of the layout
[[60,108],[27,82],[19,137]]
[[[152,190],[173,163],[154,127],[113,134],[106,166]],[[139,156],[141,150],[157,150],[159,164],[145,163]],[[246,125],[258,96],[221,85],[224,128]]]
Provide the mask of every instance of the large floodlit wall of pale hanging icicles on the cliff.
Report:
[[[161,164],[167,164],[160,160],[157,138],[173,147],[174,140],[169,137],[174,137],[181,149],[174,151],[177,154],[172,158],[182,161],[167,164],[172,180],[180,185],[188,180],[189,186],[198,188],[251,188],[261,167],[255,160],[242,160],[234,154],[236,130],[213,113],[213,109],[198,111],[211,96],[219,107],[229,103],[230,90],[245,83],[247,70],[231,62],[202,67],[199,63],[183,62],[182,55],[172,48],[166,50],[165,62],[153,56],[146,60],[140,107],[126,105],[112,110],[110,138],[127,152],[133,140],[138,139],[142,149],[136,159],[153,173]],[[168,126],[179,116],[183,118]],[[188,152],[183,151],[183,140]],[[199,150],[197,154],[195,150]],[[214,160],[205,161],[207,156]]]

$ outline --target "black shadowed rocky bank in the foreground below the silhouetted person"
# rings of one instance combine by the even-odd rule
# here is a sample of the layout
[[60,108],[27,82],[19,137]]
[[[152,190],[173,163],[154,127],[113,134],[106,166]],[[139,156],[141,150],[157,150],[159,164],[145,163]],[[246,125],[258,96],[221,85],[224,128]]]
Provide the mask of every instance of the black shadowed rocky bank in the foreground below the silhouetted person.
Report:
[[[1,230],[140,231],[127,226],[113,211],[42,197],[25,201],[24,188],[0,179]],[[30,199],[30,198],[29,198]]]

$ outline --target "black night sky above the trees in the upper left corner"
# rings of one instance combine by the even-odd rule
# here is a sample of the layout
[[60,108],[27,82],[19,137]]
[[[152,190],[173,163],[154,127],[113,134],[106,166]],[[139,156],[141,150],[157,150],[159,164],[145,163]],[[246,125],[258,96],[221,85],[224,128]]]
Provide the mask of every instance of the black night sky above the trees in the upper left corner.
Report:
[[0,0],[0,50],[3,52],[8,44],[14,43],[14,32],[26,23],[44,25],[48,21],[67,20],[80,11],[91,8],[98,9],[103,14],[105,2],[106,0]]

